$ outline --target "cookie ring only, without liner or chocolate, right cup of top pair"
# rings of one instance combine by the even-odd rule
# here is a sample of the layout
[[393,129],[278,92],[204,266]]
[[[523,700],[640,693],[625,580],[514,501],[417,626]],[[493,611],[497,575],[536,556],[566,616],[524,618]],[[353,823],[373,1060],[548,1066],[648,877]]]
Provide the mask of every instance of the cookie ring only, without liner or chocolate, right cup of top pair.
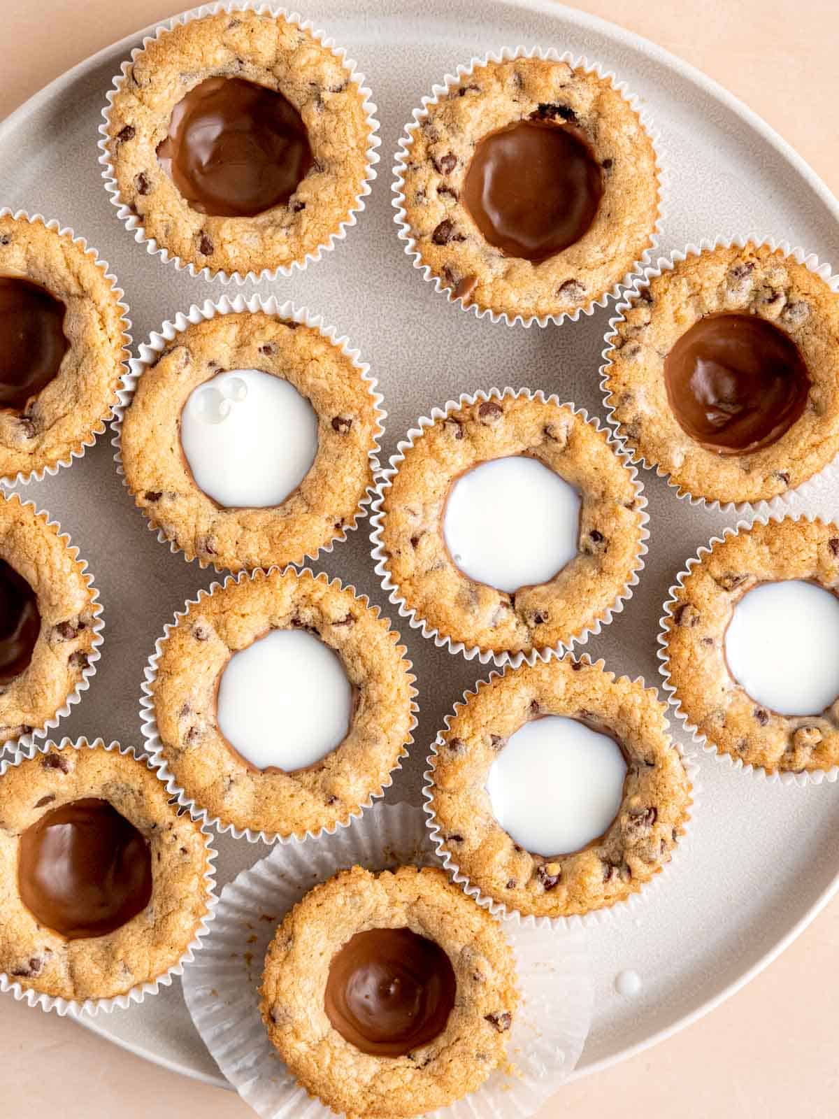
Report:
[[[491,244],[465,204],[480,141],[518,122],[572,133],[587,151],[602,190],[582,236],[539,261]],[[633,272],[653,244],[659,185],[652,140],[609,78],[565,62],[520,57],[463,75],[408,129],[398,173],[405,223],[423,264],[451,298],[511,318],[591,307]]]

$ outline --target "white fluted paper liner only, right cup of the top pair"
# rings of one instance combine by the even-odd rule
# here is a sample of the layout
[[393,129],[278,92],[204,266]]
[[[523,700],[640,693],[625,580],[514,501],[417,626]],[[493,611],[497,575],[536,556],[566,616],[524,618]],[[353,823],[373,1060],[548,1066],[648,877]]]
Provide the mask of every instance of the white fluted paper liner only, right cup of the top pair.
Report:
[[[531,314],[527,317],[519,313],[511,318],[506,311],[493,311],[489,307],[479,308],[477,303],[469,302],[462,295],[455,298],[454,290],[443,280],[442,276],[434,275],[430,265],[423,262],[422,255],[416,247],[416,239],[413,236],[411,224],[407,219],[407,213],[405,210],[405,170],[409,159],[411,145],[413,143],[414,133],[417,128],[420,128],[422,122],[427,119],[431,106],[436,105],[442,97],[445,97],[452,86],[460,85],[464,78],[470,77],[477,67],[486,66],[488,63],[508,62],[513,58],[540,58],[549,62],[567,63],[573,69],[582,69],[586,74],[595,74],[598,78],[601,78],[601,81],[609,82],[612,88],[620,93],[640,120],[644,131],[652,142],[653,151],[656,153],[659,208],[656,225],[651,232],[651,244],[647,250],[644,250],[640,260],[634,262],[630,271],[619,283],[614,284],[614,286],[609,291],[603,292],[598,299],[593,300],[586,307],[576,308],[572,312],[563,311],[559,314]],[[483,319],[489,316],[490,322],[505,322],[508,327],[516,322],[520,322],[525,327],[530,327],[534,322],[540,327],[547,326],[548,322],[559,326],[559,323],[565,322],[566,319],[569,319],[572,322],[576,322],[581,314],[591,316],[594,313],[595,307],[606,307],[610,299],[620,299],[623,289],[630,286],[635,274],[645,267],[645,265],[648,265],[652,260],[652,254],[659,247],[661,227],[667,218],[667,195],[669,190],[669,178],[664,170],[663,150],[660,137],[657,129],[653,126],[650,114],[641,107],[641,102],[638,96],[629,92],[625,82],[619,82],[614,73],[612,70],[604,69],[600,63],[590,63],[584,55],[577,57],[568,50],[564,51],[564,54],[558,54],[553,47],[547,49],[543,47],[526,48],[522,46],[516,47],[515,49],[511,47],[505,47],[502,50],[492,51],[480,58],[473,56],[468,66],[459,66],[455,74],[446,74],[443,78],[443,84],[432,86],[431,96],[423,97],[421,107],[415,109],[412,115],[413,122],[405,125],[405,131],[399,140],[399,147],[396,152],[396,160],[394,163],[394,182],[390,187],[394,194],[392,206],[396,209],[394,222],[396,223],[398,229],[399,241],[404,243],[405,253],[412,258],[414,267],[422,272],[424,280],[432,281],[434,283],[435,291],[447,293],[449,301],[451,303],[460,303],[463,310],[473,311],[479,319]]]

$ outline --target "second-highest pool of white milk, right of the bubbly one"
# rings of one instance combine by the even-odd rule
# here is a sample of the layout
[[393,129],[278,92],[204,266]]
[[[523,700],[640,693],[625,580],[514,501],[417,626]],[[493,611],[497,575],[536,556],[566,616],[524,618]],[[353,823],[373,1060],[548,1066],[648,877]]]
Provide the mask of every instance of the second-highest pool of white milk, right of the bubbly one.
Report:
[[481,462],[452,486],[443,535],[478,583],[508,593],[547,583],[577,554],[579,493],[536,459]]

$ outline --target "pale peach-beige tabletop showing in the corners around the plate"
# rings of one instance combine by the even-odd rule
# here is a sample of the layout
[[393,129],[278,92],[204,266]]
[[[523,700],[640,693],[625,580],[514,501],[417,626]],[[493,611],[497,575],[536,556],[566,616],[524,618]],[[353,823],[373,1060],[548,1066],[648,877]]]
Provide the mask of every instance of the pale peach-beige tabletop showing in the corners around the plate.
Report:
[[[87,55],[178,7],[177,0],[0,0],[0,119]],[[622,23],[716,78],[839,192],[839,0],[586,0],[575,7]],[[837,1116],[838,956],[839,900],[713,1015],[568,1085],[539,1119]],[[0,1115],[8,1119],[253,1115],[230,1093],[150,1065],[8,996],[0,999]]]

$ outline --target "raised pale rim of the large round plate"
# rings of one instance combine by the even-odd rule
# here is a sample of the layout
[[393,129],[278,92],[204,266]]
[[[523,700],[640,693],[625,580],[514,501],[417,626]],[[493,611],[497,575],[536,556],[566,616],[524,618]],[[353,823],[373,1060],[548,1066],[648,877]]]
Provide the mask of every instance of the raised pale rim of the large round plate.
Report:
[[[628,30],[620,23],[604,19],[601,16],[592,15],[591,12],[581,11],[565,3],[557,3],[554,2],[554,0],[490,0],[490,2],[498,7],[520,10],[524,9],[545,17],[564,19],[583,30],[590,29],[606,39],[611,39],[623,46],[629,46],[630,48],[639,50],[654,65],[664,67],[666,69],[676,73],[681,79],[689,82],[705,94],[720,103],[726,110],[743,121],[747,128],[756,132],[764,142],[773,148],[779,156],[788,164],[790,164],[802,179],[804,179],[813,194],[826,207],[828,213],[831,214],[833,219],[839,223],[839,199],[837,199],[837,196],[830,187],[828,187],[821,176],[819,176],[818,172],[814,171],[813,168],[807,162],[807,160],[799,154],[792,144],[785,140],[780,132],[772,128],[772,125],[769,124],[758,113],[751,109],[735,94],[730,93],[730,91],[728,91],[719,82],[709,77],[691,63],[686,62],[672,51],[659,46],[651,39]],[[195,9],[185,9],[185,11],[192,10]],[[153,34],[155,28],[169,22],[169,20],[177,19],[178,15],[180,13],[173,13],[162,20],[155,20],[145,27],[139,28],[138,30],[123,36],[123,38],[102,47],[93,55],[82,59],[76,63],[75,66],[72,66],[69,69],[64,70],[57,77],[53,78],[51,82],[43,86],[20,105],[18,105],[17,109],[13,109],[6,117],[0,120],[0,142],[2,142],[6,132],[18,128],[25,117],[29,116],[34,112],[37,112],[43,105],[47,104],[64,88],[72,85],[76,78],[87,74],[89,70],[103,63],[110,55],[116,51],[128,56],[130,48],[136,45],[139,40]],[[658,1045],[660,1042],[675,1036],[677,1033],[686,1029],[688,1026],[698,1022],[707,1014],[710,1014],[711,1010],[716,1009],[724,1002],[737,994],[737,991],[742,990],[748,982],[751,982],[775,959],[777,959],[777,957],[781,956],[781,953],[785,951],[790,944],[792,944],[793,941],[795,941],[814,921],[819,913],[836,896],[837,892],[839,892],[839,866],[837,866],[836,873],[833,874],[830,883],[816,897],[810,908],[807,909],[799,920],[788,930],[785,935],[781,937],[771,949],[760,957],[750,968],[737,976],[736,979],[732,980],[726,987],[717,991],[716,995],[688,1014],[678,1018],[676,1022],[663,1027],[662,1029],[650,1034],[648,1037],[643,1038],[643,1041],[619,1050],[609,1056],[602,1057],[600,1061],[591,1064],[584,1064],[582,1066],[578,1065],[569,1076],[568,1083],[575,1080],[581,1080],[584,1076],[602,1072],[622,1061],[634,1057],[645,1050]],[[196,1080],[200,1083],[210,1084],[216,1088],[224,1088],[228,1091],[235,1091],[233,1085],[224,1078],[220,1071],[217,1075],[205,1073],[200,1070],[188,1068],[177,1061],[171,1061],[164,1056],[160,1056],[159,1054],[152,1054],[148,1049],[138,1043],[132,1043],[121,1037],[114,1037],[106,1029],[102,1028],[98,1016],[72,1015],[72,1018],[81,1026],[84,1026],[84,1028],[104,1037],[106,1041],[117,1045],[120,1049],[125,1050],[126,1052],[130,1052],[145,1061],[150,1061],[160,1068],[167,1069],[170,1072],[180,1073],[181,1075],[187,1076],[190,1080]]]

